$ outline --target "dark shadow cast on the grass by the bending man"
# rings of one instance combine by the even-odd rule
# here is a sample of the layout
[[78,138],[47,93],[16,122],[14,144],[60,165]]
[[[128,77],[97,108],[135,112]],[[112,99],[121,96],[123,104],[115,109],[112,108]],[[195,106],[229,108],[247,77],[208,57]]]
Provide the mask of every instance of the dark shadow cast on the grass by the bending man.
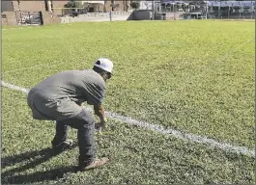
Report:
[[[71,148],[67,150],[70,150],[75,146],[77,145],[72,145]],[[73,167],[70,167],[66,169],[55,169],[55,170],[46,171],[46,172],[14,175],[15,172],[24,172],[28,169],[33,169],[36,166],[49,160],[51,157],[59,155],[60,153],[62,153],[62,151],[53,151],[52,148],[48,147],[40,151],[29,151],[29,152],[24,152],[11,157],[2,158],[2,171],[7,166],[13,166],[16,163],[29,160],[29,162],[27,162],[25,165],[21,167],[17,167],[9,171],[2,172],[1,173],[2,183],[20,184],[20,183],[40,182],[43,180],[53,180],[55,178],[59,178],[60,176],[63,176],[63,174],[66,172],[75,172],[75,169]]]

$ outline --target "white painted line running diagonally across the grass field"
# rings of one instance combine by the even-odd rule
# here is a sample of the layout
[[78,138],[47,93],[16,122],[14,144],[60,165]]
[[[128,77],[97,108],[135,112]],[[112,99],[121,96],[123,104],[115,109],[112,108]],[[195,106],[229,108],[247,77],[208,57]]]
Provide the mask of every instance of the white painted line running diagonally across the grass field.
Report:
[[[7,87],[9,89],[12,90],[16,90],[19,92],[29,92],[28,89],[24,89],[24,88],[20,88],[18,86],[14,86],[12,84],[6,83],[1,81],[1,85],[4,87]],[[92,108],[86,107],[87,111],[93,112]],[[174,130],[174,129],[166,129],[163,126],[157,125],[157,124],[152,124],[152,123],[148,123],[145,121],[140,121],[140,120],[135,120],[135,119],[131,119],[128,117],[124,117],[124,116],[120,116],[116,113],[110,113],[110,112],[106,112],[106,116],[111,118],[111,119],[118,119],[121,121],[125,121],[128,124],[131,125],[136,125],[136,126],[140,126],[146,129],[150,129],[150,130],[154,130],[158,133],[164,134],[164,135],[171,135],[175,138],[184,140],[184,141],[191,141],[194,143],[199,143],[199,144],[206,144],[206,145],[210,145],[212,147],[217,147],[217,148],[221,148],[223,150],[226,151],[230,151],[230,152],[235,152],[238,154],[244,154],[244,155],[248,155],[251,157],[255,157],[255,151],[254,150],[250,150],[244,146],[235,146],[235,145],[230,145],[227,143],[219,143],[214,141],[213,139],[208,139],[206,137],[202,137],[202,136],[197,136],[197,135],[193,135],[193,134],[188,134],[188,133],[183,133],[181,131],[178,130]]]

